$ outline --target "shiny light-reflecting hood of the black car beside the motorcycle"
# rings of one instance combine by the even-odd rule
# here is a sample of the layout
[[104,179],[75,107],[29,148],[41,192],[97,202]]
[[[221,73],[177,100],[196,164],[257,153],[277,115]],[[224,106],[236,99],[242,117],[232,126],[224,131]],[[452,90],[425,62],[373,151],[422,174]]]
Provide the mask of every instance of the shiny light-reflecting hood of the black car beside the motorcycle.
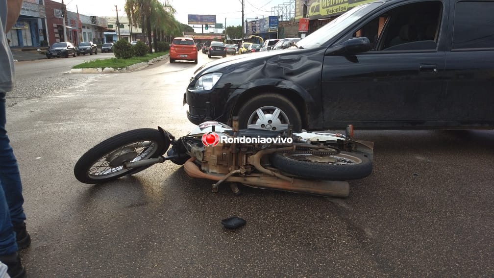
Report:
[[199,67],[194,72],[194,78],[199,78],[200,76],[211,73],[211,72],[224,72],[226,68],[228,71],[233,71],[237,66],[244,63],[249,63],[252,61],[268,60],[274,56],[283,56],[293,54],[294,51],[303,51],[305,49],[285,49],[276,51],[263,51],[255,52],[254,54],[242,54],[235,55],[228,58],[221,58],[215,61],[211,61]]

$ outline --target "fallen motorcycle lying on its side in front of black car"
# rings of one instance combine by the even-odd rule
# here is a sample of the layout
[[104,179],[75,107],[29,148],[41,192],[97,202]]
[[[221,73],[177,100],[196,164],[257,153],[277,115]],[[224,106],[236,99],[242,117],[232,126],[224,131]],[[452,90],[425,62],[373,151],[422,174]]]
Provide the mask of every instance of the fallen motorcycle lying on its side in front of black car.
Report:
[[[193,178],[213,180],[213,192],[230,183],[324,196],[346,197],[348,180],[372,172],[373,143],[338,133],[238,129],[207,121],[176,139],[162,128],[136,129],[89,149],[74,167],[76,178],[100,184],[167,160]],[[171,147],[170,147],[171,145]],[[164,156],[166,153],[166,156]]]

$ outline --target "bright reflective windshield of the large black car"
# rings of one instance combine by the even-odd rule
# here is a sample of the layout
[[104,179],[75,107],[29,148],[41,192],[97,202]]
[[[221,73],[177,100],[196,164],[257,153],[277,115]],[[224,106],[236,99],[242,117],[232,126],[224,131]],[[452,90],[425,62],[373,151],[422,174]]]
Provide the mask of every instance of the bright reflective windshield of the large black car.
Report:
[[324,25],[314,33],[300,40],[297,43],[297,46],[301,48],[321,46],[324,43],[328,42],[332,37],[339,34],[345,28],[352,25],[355,21],[362,18],[362,16],[368,14],[382,4],[382,2],[373,2],[356,6],[351,10],[345,12],[344,14],[338,16],[336,19]]

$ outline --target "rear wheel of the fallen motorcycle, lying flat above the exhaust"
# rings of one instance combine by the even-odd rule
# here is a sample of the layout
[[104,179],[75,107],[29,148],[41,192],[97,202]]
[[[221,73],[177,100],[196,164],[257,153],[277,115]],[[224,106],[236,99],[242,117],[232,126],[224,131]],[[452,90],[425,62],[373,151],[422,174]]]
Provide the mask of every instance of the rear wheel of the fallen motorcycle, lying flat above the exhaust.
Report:
[[274,153],[270,161],[283,172],[311,180],[356,180],[372,173],[368,157],[343,151],[338,154]]

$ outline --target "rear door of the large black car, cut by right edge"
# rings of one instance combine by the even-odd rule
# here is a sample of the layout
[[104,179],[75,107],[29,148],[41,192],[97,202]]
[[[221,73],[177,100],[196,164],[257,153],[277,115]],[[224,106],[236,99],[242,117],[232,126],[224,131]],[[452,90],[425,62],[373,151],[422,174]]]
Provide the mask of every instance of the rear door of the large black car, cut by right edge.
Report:
[[451,10],[444,118],[493,126],[494,1],[457,0]]

